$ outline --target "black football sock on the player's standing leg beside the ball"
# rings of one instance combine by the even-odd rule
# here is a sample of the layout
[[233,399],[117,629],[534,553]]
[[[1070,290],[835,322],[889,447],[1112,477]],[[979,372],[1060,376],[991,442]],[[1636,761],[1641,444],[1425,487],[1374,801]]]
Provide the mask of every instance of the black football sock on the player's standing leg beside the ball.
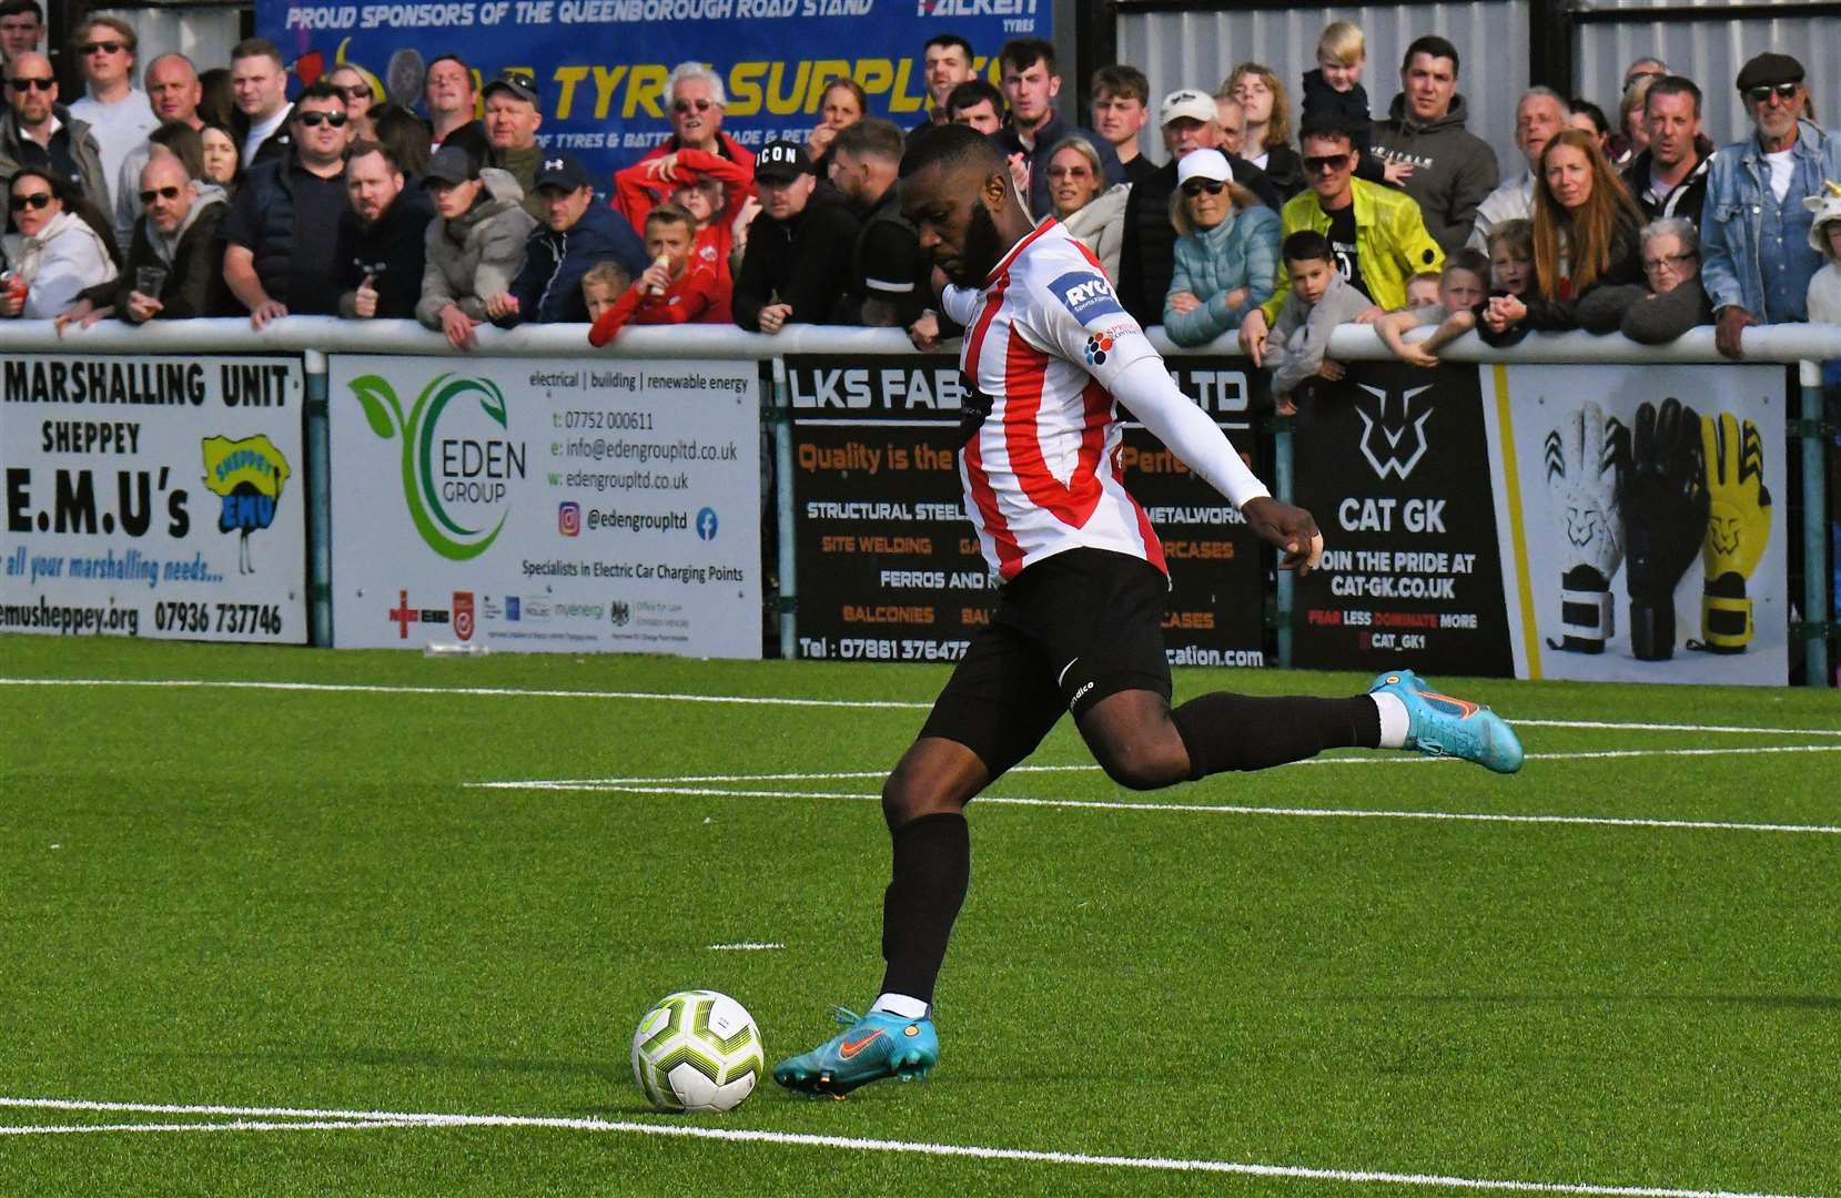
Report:
[[895,830],[895,870],[882,894],[884,994],[933,1001],[933,981],[970,881],[972,834],[963,813],[922,815]]

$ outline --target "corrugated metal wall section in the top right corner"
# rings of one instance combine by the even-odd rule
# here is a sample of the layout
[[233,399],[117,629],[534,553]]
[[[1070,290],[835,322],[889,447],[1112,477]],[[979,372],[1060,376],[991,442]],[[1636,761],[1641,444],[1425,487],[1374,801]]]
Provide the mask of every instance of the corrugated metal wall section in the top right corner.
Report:
[[[1600,13],[1616,9],[1629,20],[1581,22],[1572,37],[1574,77],[1580,94],[1616,98],[1631,59],[1653,53],[1670,70],[1701,85],[1701,120],[1719,144],[1747,136],[1751,120],[1732,81],[1745,59],[1766,50],[1793,55],[1808,72],[1815,114],[1824,127],[1841,125],[1841,20],[1834,17],[1771,17],[1771,0],[1751,0],[1756,17],[1731,20],[1655,20],[1642,9],[1690,7],[1679,0],[1598,0]],[[1605,103],[1600,99],[1600,103]],[[1605,105],[1609,110],[1609,105]]]

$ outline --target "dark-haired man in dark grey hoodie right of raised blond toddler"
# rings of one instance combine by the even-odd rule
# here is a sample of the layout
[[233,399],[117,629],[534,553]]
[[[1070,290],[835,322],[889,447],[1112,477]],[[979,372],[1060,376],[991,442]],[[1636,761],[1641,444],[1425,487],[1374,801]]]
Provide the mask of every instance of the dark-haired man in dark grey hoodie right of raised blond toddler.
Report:
[[1499,180],[1495,151],[1464,129],[1458,48],[1438,35],[1407,46],[1401,92],[1384,121],[1373,123],[1373,151],[1412,167],[1407,195],[1419,201],[1425,228],[1445,254],[1464,248],[1476,206]]

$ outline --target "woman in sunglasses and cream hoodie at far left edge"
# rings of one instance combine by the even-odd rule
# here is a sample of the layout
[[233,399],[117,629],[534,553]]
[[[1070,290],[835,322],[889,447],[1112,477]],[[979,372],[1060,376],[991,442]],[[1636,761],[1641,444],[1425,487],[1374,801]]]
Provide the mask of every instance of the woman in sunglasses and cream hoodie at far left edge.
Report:
[[0,317],[63,317],[81,291],[120,271],[109,217],[52,173],[29,166],[13,175],[7,208],[13,232]]

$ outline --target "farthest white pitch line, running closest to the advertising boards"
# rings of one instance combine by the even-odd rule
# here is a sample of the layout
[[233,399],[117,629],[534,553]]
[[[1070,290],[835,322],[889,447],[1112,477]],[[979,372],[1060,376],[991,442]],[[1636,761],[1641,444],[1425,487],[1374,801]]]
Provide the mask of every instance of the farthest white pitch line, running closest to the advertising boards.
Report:
[[[909,699],[799,699],[786,696],[707,696],[657,690],[538,690],[525,686],[383,686],[376,683],[280,683],[203,677],[0,677],[0,686],[175,686],[193,690],[298,690],[324,694],[414,694],[495,699],[631,699],[654,703],[742,703],[753,707],[832,707],[932,710],[932,701]],[[1504,716],[1506,718],[1506,716]],[[1510,720],[1532,729],[1611,729],[1631,732],[1727,732],[1758,736],[1841,736],[1841,729],[1773,729],[1740,723],[1640,723],[1616,720]]]

